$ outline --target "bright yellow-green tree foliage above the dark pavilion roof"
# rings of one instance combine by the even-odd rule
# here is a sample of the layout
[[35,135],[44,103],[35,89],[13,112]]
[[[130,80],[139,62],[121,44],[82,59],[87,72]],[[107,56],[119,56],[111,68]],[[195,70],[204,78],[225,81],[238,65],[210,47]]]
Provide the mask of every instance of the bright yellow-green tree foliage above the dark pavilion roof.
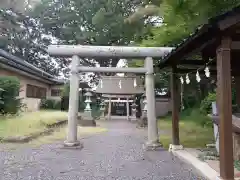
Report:
[[209,18],[240,4],[240,0],[163,0],[159,12],[163,23],[153,27],[144,46],[176,46]]

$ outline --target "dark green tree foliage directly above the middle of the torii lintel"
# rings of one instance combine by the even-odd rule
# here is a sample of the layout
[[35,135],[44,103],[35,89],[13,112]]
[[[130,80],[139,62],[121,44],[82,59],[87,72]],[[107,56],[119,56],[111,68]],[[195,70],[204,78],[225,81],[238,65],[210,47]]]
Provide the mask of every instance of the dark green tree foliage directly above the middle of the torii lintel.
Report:
[[[128,45],[139,41],[145,33],[144,21],[134,25],[125,19],[134,12],[141,0],[43,0],[31,12],[40,19],[46,34],[61,44]],[[114,59],[82,59],[82,64],[116,66]]]

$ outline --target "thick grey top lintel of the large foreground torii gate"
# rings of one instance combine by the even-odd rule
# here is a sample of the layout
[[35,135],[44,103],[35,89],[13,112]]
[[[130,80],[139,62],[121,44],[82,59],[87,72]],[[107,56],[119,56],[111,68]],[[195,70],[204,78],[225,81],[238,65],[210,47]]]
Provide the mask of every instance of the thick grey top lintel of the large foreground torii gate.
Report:
[[130,46],[85,46],[50,45],[48,53],[52,56],[106,57],[106,58],[161,58],[172,51],[172,47],[130,47]]

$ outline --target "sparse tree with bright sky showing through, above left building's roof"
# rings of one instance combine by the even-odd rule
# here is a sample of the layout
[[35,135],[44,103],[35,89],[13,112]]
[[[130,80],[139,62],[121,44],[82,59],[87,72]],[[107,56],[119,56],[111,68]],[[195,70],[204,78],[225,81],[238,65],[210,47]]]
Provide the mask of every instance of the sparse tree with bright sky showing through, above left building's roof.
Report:
[[0,17],[7,24],[1,29],[1,49],[48,73],[59,74],[59,69],[64,66],[64,63],[49,57],[46,48],[52,40],[44,35],[36,19],[7,9],[0,10]]

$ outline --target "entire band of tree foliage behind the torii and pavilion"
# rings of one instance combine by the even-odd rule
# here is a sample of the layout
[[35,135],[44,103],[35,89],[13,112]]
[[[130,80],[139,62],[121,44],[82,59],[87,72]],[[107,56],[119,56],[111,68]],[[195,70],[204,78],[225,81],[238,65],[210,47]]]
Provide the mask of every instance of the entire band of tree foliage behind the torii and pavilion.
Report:
[[[67,76],[69,61],[56,58],[53,61],[45,51],[52,39],[59,44],[176,47],[209,18],[239,4],[240,0],[44,0],[25,14],[15,11],[17,16],[3,9],[1,18],[8,28],[0,27],[0,44],[39,68]],[[6,34],[10,38],[4,38]],[[119,59],[95,60],[101,66],[116,66]],[[81,63],[93,65],[89,59],[82,59]],[[141,60],[129,63],[129,66],[142,65]],[[201,77],[197,83],[195,73],[189,76],[190,84],[183,85],[183,105],[185,109],[201,106],[203,112],[209,108],[209,98],[205,97],[214,94],[216,79]],[[167,71],[156,75],[156,89],[163,88],[169,90]],[[209,113],[209,109],[206,111]]]

